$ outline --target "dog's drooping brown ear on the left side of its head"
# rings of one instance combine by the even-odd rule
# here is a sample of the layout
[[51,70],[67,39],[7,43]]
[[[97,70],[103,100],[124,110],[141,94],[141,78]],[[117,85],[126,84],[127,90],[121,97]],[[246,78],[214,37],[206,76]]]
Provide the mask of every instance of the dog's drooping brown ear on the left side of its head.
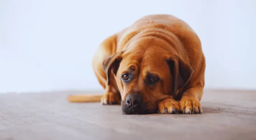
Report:
[[107,74],[107,85],[110,84],[111,71],[116,75],[122,60],[122,52],[117,52],[111,56],[108,56],[102,63],[102,68]]

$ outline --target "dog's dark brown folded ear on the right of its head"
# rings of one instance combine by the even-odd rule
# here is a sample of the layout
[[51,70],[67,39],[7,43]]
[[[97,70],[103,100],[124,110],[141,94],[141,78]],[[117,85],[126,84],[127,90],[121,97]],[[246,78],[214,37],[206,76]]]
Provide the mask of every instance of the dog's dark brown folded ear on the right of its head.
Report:
[[173,89],[174,94],[176,94],[178,89],[187,84],[194,71],[190,65],[185,63],[178,56],[170,56],[167,59],[167,63],[171,70],[171,75],[173,76]]

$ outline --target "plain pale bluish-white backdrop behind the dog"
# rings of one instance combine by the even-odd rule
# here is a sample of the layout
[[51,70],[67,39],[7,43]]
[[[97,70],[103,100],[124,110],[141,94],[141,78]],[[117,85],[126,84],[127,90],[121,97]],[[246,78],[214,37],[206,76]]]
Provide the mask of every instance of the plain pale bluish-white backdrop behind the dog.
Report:
[[206,88],[256,90],[255,7],[255,0],[0,0],[0,92],[101,90],[93,53],[147,14],[173,14],[198,33]]

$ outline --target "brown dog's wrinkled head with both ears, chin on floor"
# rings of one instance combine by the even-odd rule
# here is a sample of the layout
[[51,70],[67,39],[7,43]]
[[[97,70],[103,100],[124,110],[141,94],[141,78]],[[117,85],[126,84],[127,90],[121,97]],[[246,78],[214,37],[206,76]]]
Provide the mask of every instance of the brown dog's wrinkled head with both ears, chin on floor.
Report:
[[[161,99],[175,96],[188,82],[192,67],[167,51],[164,46],[170,44],[163,40],[144,38],[131,45],[103,62],[107,82],[116,80],[124,114],[155,113]],[[110,79],[111,73],[116,79]]]

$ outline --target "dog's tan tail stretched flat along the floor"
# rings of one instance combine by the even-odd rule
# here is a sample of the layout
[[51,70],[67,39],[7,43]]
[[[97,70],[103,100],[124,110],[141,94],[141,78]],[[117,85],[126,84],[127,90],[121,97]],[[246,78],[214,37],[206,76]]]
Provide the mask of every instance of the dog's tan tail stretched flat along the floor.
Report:
[[100,102],[103,95],[69,95],[67,100],[72,103]]

